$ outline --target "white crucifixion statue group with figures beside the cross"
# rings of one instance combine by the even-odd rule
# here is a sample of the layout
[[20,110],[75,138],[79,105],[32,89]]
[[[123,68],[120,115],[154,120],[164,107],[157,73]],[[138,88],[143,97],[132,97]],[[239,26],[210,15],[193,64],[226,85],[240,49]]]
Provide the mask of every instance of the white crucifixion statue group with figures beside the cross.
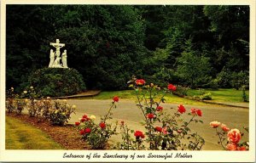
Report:
[[61,54],[61,48],[65,46],[64,43],[60,43],[59,39],[56,39],[56,42],[50,42],[49,45],[56,48],[54,52],[53,49],[50,49],[49,53],[49,67],[52,68],[68,68],[67,67],[67,50]]

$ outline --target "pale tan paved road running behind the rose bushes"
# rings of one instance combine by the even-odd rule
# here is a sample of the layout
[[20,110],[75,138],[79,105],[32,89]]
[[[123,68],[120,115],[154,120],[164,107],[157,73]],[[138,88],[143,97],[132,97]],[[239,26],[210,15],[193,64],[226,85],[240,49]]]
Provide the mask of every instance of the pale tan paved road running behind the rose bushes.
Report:
[[[67,103],[77,105],[76,114],[72,115],[69,123],[79,121],[79,118],[85,113],[87,115],[96,115],[96,120],[99,121],[100,116],[107,113],[111,102],[112,100],[67,99]],[[162,104],[164,109],[170,112],[177,111],[177,105],[179,104]],[[249,126],[249,110],[220,105],[183,105],[187,111],[190,111],[191,108],[201,109],[202,111],[201,120],[204,121],[204,123],[191,125],[190,129],[192,131],[198,132],[205,139],[206,144],[203,146],[204,150],[221,149],[220,145],[217,143],[218,138],[215,135],[215,130],[209,126],[211,121],[220,121],[230,128],[237,128],[241,130],[241,132],[245,133],[243,140],[248,140],[248,134],[242,129],[242,127]],[[173,108],[173,110],[171,110],[171,108]],[[140,124],[140,122],[143,121],[143,114],[141,110],[137,108],[135,101],[120,99],[119,103],[117,103],[117,108],[113,109],[112,116],[112,121],[124,120],[128,126],[131,127],[131,129],[144,131],[144,127]],[[187,119],[189,116],[183,115],[183,118]],[[119,140],[119,136],[113,136],[110,140],[110,143],[114,143]]]

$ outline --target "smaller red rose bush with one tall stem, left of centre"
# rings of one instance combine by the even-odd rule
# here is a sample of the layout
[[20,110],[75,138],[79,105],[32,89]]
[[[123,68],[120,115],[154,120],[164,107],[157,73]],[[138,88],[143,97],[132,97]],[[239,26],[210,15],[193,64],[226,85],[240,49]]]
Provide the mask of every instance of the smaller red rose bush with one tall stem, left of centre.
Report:
[[119,102],[119,97],[113,97],[113,102],[110,108],[108,109],[108,113],[101,117],[99,122],[96,122],[96,116],[91,115],[83,115],[79,121],[75,122],[75,126],[78,127],[80,134],[84,141],[89,143],[90,149],[106,149],[109,138],[113,134],[116,134],[116,125],[112,128],[111,124],[107,121],[112,119],[111,110],[116,108],[116,104]]

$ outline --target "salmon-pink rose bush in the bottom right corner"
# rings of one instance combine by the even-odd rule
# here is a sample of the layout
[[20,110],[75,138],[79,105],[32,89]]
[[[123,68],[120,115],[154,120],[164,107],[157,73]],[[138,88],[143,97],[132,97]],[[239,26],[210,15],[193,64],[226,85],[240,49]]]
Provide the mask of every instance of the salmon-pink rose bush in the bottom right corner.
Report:
[[[249,149],[248,142],[240,143],[243,133],[241,133],[238,129],[236,128],[230,129],[228,126],[218,121],[212,121],[210,123],[210,126],[212,126],[212,128],[215,128],[216,134],[218,135],[218,143],[221,144],[223,149],[225,150],[248,150]],[[248,128],[245,128],[245,130],[248,132]]]

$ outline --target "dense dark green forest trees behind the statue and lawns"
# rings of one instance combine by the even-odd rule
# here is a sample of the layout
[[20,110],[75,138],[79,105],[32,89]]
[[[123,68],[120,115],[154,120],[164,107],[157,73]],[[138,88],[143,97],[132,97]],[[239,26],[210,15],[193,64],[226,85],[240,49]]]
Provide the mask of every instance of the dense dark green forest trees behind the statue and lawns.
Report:
[[49,65],[56,38],[88,89],[125,89],[132,76],[193,88],[248,84],[249,6],[7,5],[6,15],[7,88],[25,87]]

